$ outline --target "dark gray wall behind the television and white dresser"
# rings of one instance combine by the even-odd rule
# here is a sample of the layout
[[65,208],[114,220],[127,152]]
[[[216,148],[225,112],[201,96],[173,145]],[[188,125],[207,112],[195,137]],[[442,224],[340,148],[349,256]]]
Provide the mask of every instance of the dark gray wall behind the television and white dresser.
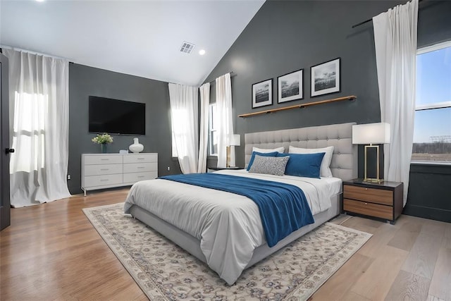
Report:
[[[89,95],[146,104],[146,135],[113,135],[109,152],[128,149],[133,137],[144,145],[143,152],[159,155],[159,176],[180,173],[178,161],[171,157],[171,116],[168,83],[123,73],[70,63],[69,65],[69,191],[82,192],[81,154],[99,154],[100,147],[88,132]],[[127,122],[127,121],[124,121]],[[168,171],[168,166],[171,171]]]

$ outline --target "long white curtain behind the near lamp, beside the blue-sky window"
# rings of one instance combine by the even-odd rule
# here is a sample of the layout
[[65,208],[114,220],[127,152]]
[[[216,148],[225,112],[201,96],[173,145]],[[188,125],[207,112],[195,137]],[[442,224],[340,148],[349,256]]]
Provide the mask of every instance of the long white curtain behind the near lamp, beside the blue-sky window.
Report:
[[381,121],[391,128],[384,179],[404,183],[404,206],[414,139],[417,20],[418,0],[373,18]]

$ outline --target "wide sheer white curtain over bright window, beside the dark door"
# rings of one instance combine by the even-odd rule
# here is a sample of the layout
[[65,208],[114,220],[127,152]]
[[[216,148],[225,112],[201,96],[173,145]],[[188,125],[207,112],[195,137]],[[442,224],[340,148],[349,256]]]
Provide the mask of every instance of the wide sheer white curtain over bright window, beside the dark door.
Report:
[[70,197],[67,60],[3,49],[9,59],[11,205]]

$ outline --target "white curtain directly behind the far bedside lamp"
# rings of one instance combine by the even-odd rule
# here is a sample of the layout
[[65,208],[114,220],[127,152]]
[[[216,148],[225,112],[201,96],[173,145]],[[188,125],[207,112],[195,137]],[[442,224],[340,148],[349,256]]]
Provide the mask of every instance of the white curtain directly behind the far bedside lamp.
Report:
[[[227,165],[227,149],[233,137],[232,85],[230,73],[216,78],[216,112],[218,118],[218,167]],[[234,147],[230,147],[234,148]],[[235,149],[233,149],[235,151]],[[235,153],[230,156],[230,166],[235,166]]]

